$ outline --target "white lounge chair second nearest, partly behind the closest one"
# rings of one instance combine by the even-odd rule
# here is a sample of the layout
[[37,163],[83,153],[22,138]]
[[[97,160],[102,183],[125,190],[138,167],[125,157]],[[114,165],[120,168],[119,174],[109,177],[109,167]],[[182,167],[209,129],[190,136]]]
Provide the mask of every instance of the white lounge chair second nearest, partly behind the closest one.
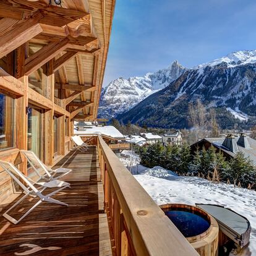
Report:
[[[70,173],[72,169],[67,168],[58,168],[58,169],[51,169],[47,167],[33,151],[28,150],[20,150],[25,158],[30,163],[31,167],[34,169],[35,173],[39,176],[39,179],[45,179],[46,181],[54,181],[55,179],[59,179],[66,174]],[[40,170],[43,171],[43,174],[40,173]]]

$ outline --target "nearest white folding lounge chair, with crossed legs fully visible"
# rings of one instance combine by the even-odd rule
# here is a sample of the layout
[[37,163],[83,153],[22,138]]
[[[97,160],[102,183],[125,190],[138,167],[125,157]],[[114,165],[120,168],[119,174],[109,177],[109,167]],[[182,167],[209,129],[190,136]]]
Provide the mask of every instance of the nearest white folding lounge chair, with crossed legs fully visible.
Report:
[[[23,173],[19,171],[13,164],[8,163],[6,161],[0,161],[0,166],[14,179],[14,181],[19,184],[19,186],[24,190],[25,195],[23,195],[22,198],[20,198],[14,205],[12,205],[9,210],[7,210],[2,216],[7,218],[7,220],[11,221],[14,224],[19,223],[25,216],[27,216],[31,211],[33,211],[38,205],[40,205],[41,202],[49,202],[49,203],[57,203],[59,205],[65,205],[67,206],[67,203],[63,203],[59,200],[51,198],[52,195],[60,192],[63,189],[66,189],[66,187],[70,187],[70,184],[64,181],[49,181],[49,182],[35,182],[29,177],[25,176]],[[24,184],[23,184],[23,183]],[[38,186],[37,188],[35,186]],[[47,188],[58,188],[57,190],[51,192],[48,195],[43,195],[43,190]],[[39,197],[40,200],[33,205],[32,208],[30,208],[26,213],[24,213],[19,220],[15,220],[15,218],[12,218],[7,213],[11,211],[14,207],[19,205],[28,195],[35,195],[35,197]]]

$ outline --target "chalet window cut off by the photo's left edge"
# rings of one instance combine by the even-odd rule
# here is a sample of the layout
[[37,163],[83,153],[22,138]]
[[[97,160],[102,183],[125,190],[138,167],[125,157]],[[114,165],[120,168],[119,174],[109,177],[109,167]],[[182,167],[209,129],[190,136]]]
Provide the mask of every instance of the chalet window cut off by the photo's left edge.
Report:
[[0,150],[14,147],[14,99],[0,93]]

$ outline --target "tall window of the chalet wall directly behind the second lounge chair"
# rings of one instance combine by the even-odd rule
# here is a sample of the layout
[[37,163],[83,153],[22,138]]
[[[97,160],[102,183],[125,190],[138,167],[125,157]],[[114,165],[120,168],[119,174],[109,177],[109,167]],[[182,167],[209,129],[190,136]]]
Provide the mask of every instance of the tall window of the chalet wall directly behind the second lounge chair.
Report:
[[28,150],[33,151],[42,160],[42,119],[41,109],[28,107]]

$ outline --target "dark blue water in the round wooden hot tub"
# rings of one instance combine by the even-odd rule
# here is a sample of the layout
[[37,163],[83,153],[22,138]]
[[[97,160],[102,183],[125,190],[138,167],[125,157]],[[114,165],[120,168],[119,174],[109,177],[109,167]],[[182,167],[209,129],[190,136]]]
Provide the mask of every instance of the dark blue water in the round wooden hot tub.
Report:
[[191,211],[170,210],[165,211],[165,214],[185,237],[197,236],[210,227],[207,220]]

